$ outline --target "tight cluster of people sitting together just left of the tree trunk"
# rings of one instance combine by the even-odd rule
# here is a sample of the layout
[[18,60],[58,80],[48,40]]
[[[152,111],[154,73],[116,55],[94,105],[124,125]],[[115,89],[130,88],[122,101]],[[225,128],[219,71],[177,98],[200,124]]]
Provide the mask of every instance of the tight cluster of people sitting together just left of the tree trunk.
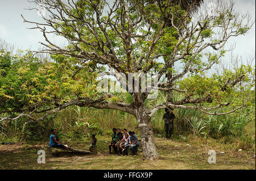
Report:
[[111,149],[113,148],[114,153],[119,153],[119,155],[128,155],[128,149],[132,151],[133,155],[137,155],[137,149],[139,146],[139,140],[137,135],[133,131],[127,131],[123,128],[123,133],[121,129],[112,129],[112,141],[109,144],[109,154],[112,154]]

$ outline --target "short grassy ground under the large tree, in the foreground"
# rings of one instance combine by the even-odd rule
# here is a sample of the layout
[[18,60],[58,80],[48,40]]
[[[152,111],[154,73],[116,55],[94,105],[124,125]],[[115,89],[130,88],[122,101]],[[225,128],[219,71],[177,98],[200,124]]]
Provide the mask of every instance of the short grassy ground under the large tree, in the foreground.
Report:
[[[81,155],[53,149],[53,157],[46,157],[46,164],[37,163],[37,152],[46,150],[47,143],[20,143],[0,145],[0,169],[253,169],[255,153],[238,151],[236,143],[222,144],[215,140],[174,140],[156,137],[161,158],[146,161],[142,152],[137,157],[108,155],[109,137],[97,137],[97,155]],[[68,142],[65,144],[69,144]],[[74,148],[88,150],[90,140],[72,142]],[[191,146],[189,146],[191,145]],[[216,163],[208,163],[208,151],[216,151]],[[222,151],[224,153],[222,153]]]

